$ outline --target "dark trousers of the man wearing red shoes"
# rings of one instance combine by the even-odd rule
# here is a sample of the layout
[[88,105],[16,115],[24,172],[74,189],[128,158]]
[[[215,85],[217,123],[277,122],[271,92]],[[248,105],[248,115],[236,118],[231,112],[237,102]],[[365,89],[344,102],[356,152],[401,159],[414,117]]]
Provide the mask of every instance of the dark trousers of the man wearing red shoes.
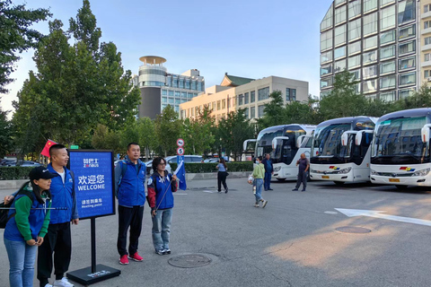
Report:
[[[136,253],[142,230],[143,215],[144,206],[125,207],[119,205],[119,238],[117,239],[117,249],[119,250],[120,257]],[[128,227],[130,227],[129,239]],[[127,243],[128,249],[126,248]]]

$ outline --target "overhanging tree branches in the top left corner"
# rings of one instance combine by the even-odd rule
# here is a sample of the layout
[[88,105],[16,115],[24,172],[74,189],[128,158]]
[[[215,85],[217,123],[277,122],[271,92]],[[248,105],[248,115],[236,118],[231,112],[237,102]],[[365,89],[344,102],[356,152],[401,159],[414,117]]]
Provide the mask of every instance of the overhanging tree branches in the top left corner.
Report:
[[25,4],[13,5],[11,0],[0,0],[0,93],[8,90],[4,86],[13,82],[10,78],[17,54],[38,47],[43,35],[31,29],[34,23],[51,16],[48,9],[28,10]]

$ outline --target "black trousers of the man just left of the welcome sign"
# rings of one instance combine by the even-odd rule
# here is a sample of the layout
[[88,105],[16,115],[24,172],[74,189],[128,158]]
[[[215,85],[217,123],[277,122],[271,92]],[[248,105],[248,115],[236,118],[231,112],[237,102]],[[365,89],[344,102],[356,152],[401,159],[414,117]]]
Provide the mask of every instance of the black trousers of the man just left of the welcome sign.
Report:
[[51,277],[53,252],[54,274],[56,274],[56,280],[60,280],[69,269],[72,254],[70,222],[48,225],[48,233],[45,235],[38,252],[38,279],[42,287],[48,283],[48,278]]

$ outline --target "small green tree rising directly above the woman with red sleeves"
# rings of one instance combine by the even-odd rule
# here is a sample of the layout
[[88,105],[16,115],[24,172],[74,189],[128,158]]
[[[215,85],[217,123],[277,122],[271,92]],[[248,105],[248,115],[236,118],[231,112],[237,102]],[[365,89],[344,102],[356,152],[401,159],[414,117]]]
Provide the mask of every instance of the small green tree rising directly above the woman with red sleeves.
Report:
[[181,135],[182,122],[171,105],[164,108],[162,114],[157,115],[154,126],[157,142],[162,149],[164,157],[168,156],[168,154],[176,153],[176,143]]

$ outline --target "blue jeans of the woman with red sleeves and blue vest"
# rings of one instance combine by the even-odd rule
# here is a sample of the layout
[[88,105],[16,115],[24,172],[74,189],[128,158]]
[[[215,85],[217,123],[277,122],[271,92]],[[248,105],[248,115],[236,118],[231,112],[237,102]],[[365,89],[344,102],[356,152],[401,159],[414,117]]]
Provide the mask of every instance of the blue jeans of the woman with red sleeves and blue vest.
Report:
[[172,208],[159,209],[153,217],[153,244],[155,251],[169,249]]

